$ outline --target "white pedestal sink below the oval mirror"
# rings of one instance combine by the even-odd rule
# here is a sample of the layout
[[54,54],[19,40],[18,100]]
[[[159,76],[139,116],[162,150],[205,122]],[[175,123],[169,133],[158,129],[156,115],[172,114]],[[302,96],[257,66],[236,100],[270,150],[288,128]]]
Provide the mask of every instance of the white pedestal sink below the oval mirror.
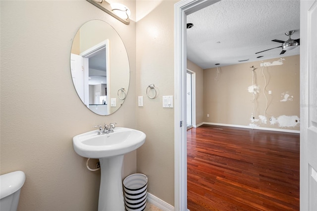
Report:
[[112,133],[98,135],[98,130],[73,138],[75,152],[85,158],[99,158],[101,181],[98,211],[124,211],[121,168],[124,154],[141,147],[145,133],[116,127]]

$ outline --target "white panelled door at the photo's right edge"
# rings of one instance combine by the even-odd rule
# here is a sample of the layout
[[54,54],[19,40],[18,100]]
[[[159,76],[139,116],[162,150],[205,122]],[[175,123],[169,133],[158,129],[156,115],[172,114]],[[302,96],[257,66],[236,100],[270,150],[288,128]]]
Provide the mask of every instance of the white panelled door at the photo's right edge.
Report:
[[301,0],[300,208],[317,211],[317,0]]

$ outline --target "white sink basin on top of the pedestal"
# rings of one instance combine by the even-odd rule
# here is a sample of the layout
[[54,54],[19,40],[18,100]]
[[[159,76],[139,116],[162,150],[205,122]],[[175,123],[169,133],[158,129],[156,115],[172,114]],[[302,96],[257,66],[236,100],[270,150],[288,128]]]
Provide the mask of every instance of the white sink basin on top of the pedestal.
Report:
[[108,158],[124,155],[141,147],[145,133],[124,127],[116,127],[114,132],[98,135],[98,130],[73,137],[75,152],[85,158]]

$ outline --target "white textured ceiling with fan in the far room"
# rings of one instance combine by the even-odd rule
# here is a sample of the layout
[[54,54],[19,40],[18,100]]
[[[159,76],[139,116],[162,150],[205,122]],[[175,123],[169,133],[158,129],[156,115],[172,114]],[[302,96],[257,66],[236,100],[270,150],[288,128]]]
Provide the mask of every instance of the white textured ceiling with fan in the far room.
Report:
[[187,15],[187,23],[194,24],[187,29],[187,58],[203,69],[299,54],[300,47],[255,54],[281,46],[271,40],[288,40],[287,31],[299,38],[299,0],[221,0]]

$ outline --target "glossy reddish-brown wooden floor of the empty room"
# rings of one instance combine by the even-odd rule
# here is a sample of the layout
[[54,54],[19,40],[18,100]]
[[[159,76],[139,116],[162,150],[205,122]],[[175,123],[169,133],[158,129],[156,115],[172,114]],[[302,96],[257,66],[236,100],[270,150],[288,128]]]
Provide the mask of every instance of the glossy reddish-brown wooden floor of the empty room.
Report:
[[299,134],[187,130],[190,211],[299,211]]

